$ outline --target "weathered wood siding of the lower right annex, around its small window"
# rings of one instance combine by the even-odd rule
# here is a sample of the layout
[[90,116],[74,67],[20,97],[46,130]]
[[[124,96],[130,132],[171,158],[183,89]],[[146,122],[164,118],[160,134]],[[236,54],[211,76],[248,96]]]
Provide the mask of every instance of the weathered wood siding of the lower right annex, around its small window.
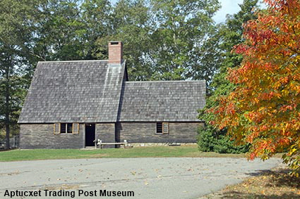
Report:
[[169,122],[169,134],[156,134],[156,122],[120,122],[116,135],[128,143],[195,143],[200,122]]

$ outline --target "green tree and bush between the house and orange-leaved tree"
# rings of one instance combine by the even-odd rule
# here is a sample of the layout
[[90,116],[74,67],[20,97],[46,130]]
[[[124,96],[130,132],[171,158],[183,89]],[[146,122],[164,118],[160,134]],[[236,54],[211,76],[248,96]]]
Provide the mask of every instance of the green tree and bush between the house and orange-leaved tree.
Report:
[[[256,18],[254,10],[257,9],[258,0],[244,0],[243,4],[239,5],[241,11],[234,15],[227,15],[226,23],[218,27],[217,34],[214,38],[220,40],[217,46],[219,62],[219,72],[212,78],[212,83],[208,88],[208,98],[203,110],[200,110],[199,119],[204,121],[215,120],[215,114],[208,113],[206,110],[216,107],[218,98],[226,96],[234,90],[235,85],[226,79],[228,68],[234,68],[241,64],[242,56],[237,53],[232,53],[232,48],[244,42],[243,24],[248,20]],[[198,145],[202,151],[215,151],[218,153],[245,153],[248,150],[248,144],[244,146],[235,146],[234,141],[227,136],[227,129],[218,130],[209,123],[205,124],[205,128],[199,129]],[[208,141],[208,139],[210,141]]]

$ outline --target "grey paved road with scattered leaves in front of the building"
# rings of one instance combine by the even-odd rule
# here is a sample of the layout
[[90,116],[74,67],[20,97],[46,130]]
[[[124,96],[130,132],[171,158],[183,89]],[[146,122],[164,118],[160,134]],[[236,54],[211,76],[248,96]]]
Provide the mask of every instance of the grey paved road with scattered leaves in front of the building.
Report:
[[[265,162],[248,162],[243,158],[102,158],[0,162],[0,198],[10,198],[7,195],[4,197],[4,194],[16,195],[16,190],[26,194],[42,190],[40,193],[32,192],[37,194],[36,197],[25,197],[41,199],[72,198],[72,194],[73,198],[87,199],[199,198],[228,184],[236,184],[258,173],[260,169],[270,169],[279,164],[280,159],[277,158]],[[52,191],[52,195],[65,196],[49,197],[49,191],[46,196],[44,189]],[[81,190],[80,196],[78,190]],[[134,197],[104,197],[100,196],[100,190],[102,193],[106,190],[107,194],[109,191],[133,191]]]

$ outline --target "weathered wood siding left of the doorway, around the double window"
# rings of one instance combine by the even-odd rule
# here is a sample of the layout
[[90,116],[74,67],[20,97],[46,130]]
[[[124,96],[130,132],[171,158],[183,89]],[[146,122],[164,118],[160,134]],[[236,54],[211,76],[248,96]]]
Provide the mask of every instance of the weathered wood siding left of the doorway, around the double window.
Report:
[[84,124],[79,134],[54,134],[54,124],[20,124],[20,148],[84,148]]

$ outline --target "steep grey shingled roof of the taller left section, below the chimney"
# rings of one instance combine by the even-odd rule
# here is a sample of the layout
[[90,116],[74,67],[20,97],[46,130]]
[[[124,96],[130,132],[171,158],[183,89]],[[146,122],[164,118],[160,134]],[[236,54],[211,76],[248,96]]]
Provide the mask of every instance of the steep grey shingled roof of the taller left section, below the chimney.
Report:
[[116,122],[125,70],[125,61],[39,62],[18,122]]

